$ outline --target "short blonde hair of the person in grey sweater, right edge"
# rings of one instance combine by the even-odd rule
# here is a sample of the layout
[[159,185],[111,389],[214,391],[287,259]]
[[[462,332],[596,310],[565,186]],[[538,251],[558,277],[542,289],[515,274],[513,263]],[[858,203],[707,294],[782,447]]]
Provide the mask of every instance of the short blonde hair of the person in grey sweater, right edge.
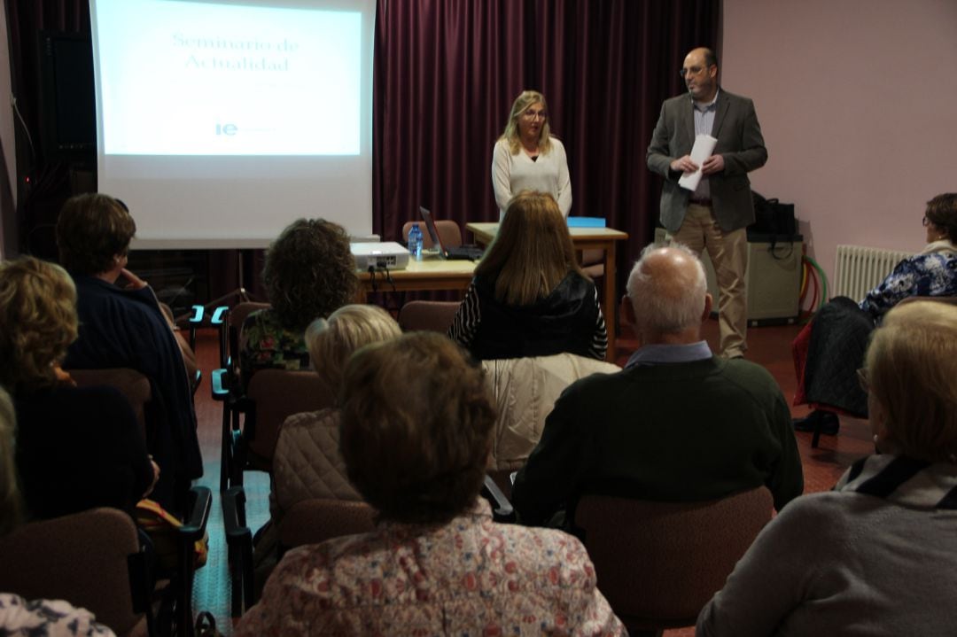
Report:
[[957,307],[896,306],[874,331],[866,366],[891,446],[915,459],[957,464]]

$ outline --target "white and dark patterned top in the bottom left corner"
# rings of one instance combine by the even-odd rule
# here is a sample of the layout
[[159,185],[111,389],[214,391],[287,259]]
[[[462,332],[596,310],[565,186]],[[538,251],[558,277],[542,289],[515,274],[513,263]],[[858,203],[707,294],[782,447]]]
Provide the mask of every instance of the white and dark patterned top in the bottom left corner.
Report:
[[0,593],[0,635],[7,637],[116,637],[93,613],[62,600],[33,600]]

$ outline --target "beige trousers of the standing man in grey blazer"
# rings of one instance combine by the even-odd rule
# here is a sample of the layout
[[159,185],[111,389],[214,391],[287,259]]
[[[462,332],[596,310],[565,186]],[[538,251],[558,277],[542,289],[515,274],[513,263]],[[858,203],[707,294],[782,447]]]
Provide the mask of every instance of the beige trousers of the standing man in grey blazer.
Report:
[[747,231],[725,232],[711,208],[688,204],[681,228],[668,233],[669,243],[682,243],[699,256],[705,250],[711,257],[718,279],[718,325],[721,330],[721,356],[744,356],[747,351]]

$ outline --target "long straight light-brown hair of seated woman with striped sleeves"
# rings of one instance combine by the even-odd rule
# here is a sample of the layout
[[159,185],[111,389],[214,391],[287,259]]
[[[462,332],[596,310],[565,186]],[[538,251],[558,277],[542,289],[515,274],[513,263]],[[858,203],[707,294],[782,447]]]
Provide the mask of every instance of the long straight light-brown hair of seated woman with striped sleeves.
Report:
[[558,204],[550,194],[523,190],[509,202],[476,275],[495,280],[499,301],[530,305],[551,294],[570,272],[585,276]]

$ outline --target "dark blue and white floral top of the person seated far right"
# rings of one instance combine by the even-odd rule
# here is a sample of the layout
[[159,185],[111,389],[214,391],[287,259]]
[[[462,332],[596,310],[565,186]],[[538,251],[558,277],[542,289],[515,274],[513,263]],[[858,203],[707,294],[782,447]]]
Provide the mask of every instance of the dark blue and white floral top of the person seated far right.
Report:
[[903,298],[953,296],[957,296],[957,246],[935,241],[897,264],[894,272],[860,301],[860,309],[878,321]]

